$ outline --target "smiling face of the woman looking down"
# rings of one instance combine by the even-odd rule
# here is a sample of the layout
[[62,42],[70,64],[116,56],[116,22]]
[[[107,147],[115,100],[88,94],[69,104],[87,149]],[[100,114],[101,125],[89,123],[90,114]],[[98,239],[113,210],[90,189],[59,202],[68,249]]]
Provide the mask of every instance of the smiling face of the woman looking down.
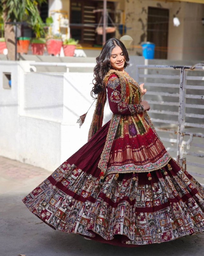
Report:
[[124,71],[125,57],[120,46],[115,46],[111,52],[111,66],[119,71]]

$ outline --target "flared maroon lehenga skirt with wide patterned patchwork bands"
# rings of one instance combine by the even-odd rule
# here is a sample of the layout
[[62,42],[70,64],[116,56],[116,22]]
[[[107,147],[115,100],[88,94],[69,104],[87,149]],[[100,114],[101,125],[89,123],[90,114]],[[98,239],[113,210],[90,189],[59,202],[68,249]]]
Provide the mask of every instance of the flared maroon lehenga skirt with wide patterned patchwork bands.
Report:
[[23,199],[54,229],[103,243],[140,246],[204,231],[204,191],[173,159],[147,173],[106,176],[98,168],[110,122]]

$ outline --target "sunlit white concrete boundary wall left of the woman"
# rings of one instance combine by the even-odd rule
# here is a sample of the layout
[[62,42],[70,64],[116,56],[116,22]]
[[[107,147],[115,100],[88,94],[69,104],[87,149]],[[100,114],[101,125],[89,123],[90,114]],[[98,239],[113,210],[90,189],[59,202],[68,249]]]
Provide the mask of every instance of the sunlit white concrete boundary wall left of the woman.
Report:
[[87,142],[94,106],[92,73],[32,73],[29,63],[0,62],[11,89],[0,86],[0,155],[54,170]]

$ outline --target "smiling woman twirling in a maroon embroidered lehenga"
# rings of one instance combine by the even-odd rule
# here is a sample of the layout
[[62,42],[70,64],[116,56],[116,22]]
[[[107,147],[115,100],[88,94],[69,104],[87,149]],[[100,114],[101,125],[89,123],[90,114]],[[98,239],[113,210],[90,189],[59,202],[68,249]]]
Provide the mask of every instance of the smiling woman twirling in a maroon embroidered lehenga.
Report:
[[[54,229],[120,246],[203,231],[204,191],[165,150],[143,84],[124,70],[128,60],[122,42],[106,42],[94,68],[89,141],[23,202]],[[106,90],[113,117],[101,128]]]

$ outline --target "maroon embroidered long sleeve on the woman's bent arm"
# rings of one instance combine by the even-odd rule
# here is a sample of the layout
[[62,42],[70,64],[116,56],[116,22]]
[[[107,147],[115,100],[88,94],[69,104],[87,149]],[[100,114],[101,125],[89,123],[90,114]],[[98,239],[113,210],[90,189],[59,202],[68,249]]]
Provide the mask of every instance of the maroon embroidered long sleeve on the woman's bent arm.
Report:
[[127,104],[122,101],[120,80],[115,74],[108,79],[107,92],[109,106],[113,114],[132,115],[144,111],[141,104]]

